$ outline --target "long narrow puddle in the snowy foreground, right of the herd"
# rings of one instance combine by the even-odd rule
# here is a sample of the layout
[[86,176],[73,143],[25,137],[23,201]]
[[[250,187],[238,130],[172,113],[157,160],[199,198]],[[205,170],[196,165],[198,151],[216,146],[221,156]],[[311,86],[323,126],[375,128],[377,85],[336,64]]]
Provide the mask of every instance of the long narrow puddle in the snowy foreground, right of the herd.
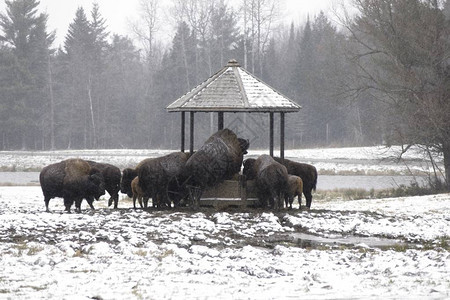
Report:
[[299,245],[301,248],[317,248],[318,246],[322,245],[356,246],[364,244],[369,247],[376,247],[376,248],[406,245],[405,243],[398,240],[376,238],[376,237],[356,237],[356,236],[320,237],[301,232],[291,233],[290,236],[293,238],[294,243]]

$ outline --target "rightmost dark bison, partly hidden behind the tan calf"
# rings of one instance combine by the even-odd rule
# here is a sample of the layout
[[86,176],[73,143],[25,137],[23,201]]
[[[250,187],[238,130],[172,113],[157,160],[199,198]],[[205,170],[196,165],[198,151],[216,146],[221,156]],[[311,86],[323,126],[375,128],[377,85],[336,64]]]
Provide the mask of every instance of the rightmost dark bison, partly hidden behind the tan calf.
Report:
[[303,194],[306,198],[306,207],[308,209],[311,208],[312,191],[316,190],[317,186],[316,167],[289,159],[282,160],[279,157],[276,157],[275,160],[282,163],[287,168],[289,174],[296,175],[303,180]]

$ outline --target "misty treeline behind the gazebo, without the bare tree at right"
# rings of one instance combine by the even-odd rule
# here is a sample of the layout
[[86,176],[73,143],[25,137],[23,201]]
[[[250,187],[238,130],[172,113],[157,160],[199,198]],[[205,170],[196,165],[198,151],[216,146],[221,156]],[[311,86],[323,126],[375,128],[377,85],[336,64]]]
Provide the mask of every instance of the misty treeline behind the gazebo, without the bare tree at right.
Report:
[[[109,32],[98,5],[80,7],[54,48],[39,1],[6,1],[0,149],[177,148],[180,116],[165,107],[229,59],[303,106],[287,116],[289,147],[380,142],[339,96],[345,37],[324,14],[281,28],[277,1],[173,1],[175,33],[164,49],[155,38],[157,4],[141,3],[132,38]],[[214,130],[212,118],[198,114],[198,139]],[[236,118],[245,117],[226,116],[225,125]],[[249,124],[261,125],[250,133],[255,146],[267,146],[266,118]]]

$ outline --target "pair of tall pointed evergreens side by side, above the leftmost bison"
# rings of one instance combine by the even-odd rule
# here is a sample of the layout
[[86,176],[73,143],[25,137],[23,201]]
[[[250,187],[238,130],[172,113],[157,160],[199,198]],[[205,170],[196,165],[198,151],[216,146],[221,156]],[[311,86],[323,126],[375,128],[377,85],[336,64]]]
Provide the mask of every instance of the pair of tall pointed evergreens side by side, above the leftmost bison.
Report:
[[[66,99],[70,104],[67,106],[68,126],[71,129],[68,147],[95,148],[100,139],[100,132],[107,128],[105,123],[99,127],[97,120],[104,121],[106,117],[100,115],[100,112],[104,112],[107,106],[106,98],[102,96],[102,81],[108,32],[96,4],[91,17],[92,21],[89,21],[84,9],[78,8],[64,43],[67,53],[66,67],[71,75],[66,82],[71,91],[71,95]],[[104,139],[102,141],[104,142]]]

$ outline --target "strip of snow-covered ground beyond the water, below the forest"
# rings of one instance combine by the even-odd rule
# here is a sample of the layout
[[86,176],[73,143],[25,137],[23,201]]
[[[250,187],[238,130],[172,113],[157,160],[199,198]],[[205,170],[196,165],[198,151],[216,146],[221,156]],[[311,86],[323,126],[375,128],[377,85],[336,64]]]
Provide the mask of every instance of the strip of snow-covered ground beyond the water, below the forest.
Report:
[[[123,169],[134,167],[141,160],[157,157],[174,150],[59,150],[59,151],[0,151],[0,170],[40,170],[50,163],[71,157],[107,162]],[[177,151],[177,150],[175,150]],[[268,151],[250,150],[246,157]],[[400,147],[353,147],[286,150],[286,158],[312,163],[319,174],[417,175],[432,171],[428,157],[418,149],[410,149],[398,161]],[[275,155],[279,153],[275,151]],[[442,158],[436,157],[441,162]]]

